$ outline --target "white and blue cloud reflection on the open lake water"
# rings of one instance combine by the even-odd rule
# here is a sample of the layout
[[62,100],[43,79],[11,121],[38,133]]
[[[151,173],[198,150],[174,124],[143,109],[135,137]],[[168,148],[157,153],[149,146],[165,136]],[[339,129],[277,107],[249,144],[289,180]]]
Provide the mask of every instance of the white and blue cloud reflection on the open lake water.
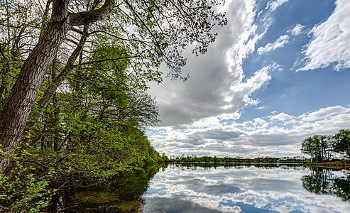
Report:
[[310,170],[295,168],[184,168],[170,165],[150,182],[144,212],[346,212],[349,202],[302,187]]

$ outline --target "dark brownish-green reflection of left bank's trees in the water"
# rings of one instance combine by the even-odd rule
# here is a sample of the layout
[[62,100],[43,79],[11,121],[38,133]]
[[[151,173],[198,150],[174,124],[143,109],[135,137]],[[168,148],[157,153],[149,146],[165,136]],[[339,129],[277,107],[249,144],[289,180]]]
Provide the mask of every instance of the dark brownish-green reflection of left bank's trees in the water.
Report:
[[[108,186],[60,192],[48,212],[141,212],[141,195],[160,166],[121,174]],[[163,168],[165,169],[165,168]]]

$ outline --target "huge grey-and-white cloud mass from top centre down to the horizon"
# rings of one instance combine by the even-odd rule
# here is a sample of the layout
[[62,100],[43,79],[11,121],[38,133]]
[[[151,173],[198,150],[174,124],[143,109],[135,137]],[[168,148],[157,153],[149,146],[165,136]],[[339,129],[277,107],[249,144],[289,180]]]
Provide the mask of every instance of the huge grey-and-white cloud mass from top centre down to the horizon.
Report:
[[[229,26],[219,29],[219,36],[208,53],[198,58],[191,57],[190,51],[186,53],[190,60],[182,72],[190,73],[190,80],[182,83],[165,79],[163,84],[151,85],[150,94],[156,97],[163,123],[148,131],[148,137],[160,153],[249,157],[300,155],[300,142],[304,138],[349,128],[350,106],[325,107],[299,115],[279,110],[250,121],[238,120],[246,107],[260,102],[253,94],[264,92],[273,77],[278,80],[283,73],[275,72],[281,71],[282,66],[276,63],[267,65],[267,60],[261,62],[262,65],[258,62],[256,71],[246,76],[244,62],[273,23],[269,19],[270,11],[285,2],[270,1],[268,10],[258,13],[260,16],[256,13],[256,1],[231,1],[229,6],[222,8],[226,11]],[[339,10],[341,2],[344,3],[337,2],[332,16]],[[257,17],[267,22],[260,23]],[[281,36],[275,42],[258,48],[257,53],[282,48],[295,35],[305,33],[304,28],[296,24],[283,32],[285,35],[279,34]],[[312,31],[314,34],[316,28]],[[345,29],[346,32],[347,29],[350,27]],[[313,39],[317,39],[316,34]],[[310,46],[312,42],[308,48]],[[281,97],[286,99],[285,92],[282,93]],[[273,110],[268,104],[263,104],[266,109],[264,106],[252,108],[261,109],[262,113]]]

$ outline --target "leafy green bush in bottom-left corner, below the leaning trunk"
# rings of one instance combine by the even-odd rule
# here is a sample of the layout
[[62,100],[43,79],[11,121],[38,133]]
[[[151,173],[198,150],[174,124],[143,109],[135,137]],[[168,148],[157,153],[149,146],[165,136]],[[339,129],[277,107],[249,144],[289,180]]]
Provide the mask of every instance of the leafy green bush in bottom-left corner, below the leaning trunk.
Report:
[[[0,156],[6,153],[0,151]],[[43,173],[38,155],[13,154],[9,173],[0,174],[1,207],[10,212],[40,212],[50,204],[55,190],[49,187],[54,168]]]

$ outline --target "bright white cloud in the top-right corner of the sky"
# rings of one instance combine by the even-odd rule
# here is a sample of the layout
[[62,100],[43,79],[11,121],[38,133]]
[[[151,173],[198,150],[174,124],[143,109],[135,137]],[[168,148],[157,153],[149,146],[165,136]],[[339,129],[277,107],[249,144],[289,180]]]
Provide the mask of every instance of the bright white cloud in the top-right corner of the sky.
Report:
[[350,67],[350,1],[337,0],[328,20],[312,28],[313,38],[304,54],[306,64],[298,71],[334,65],[334,70]]

